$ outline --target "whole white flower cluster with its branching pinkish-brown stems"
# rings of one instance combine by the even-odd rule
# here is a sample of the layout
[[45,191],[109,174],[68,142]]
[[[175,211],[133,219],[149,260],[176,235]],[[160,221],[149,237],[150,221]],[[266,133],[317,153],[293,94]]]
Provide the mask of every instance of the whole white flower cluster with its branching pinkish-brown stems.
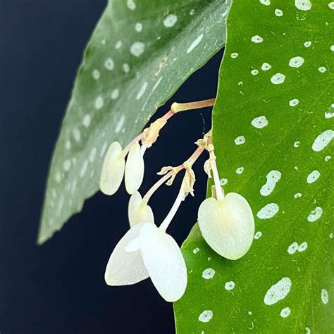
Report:
[[[187,268],[180,247],[166,233],[168,225],[188,194],[194,196],[195,175],[192,165],[203,151],[209,152],[204,171],[214,176],[213,197],[202,202],[198,212],[199,228],[209,246],[227,259],[240,259],[252,245],[254,217],[247,200],[240,194],[224,195],[216,167],[216,156],[211,131],[197,140],[192,156],[177,167],[161,168],[161,179],[141,196],[139,189],[144,175],[144,152],[159,137],[159,132],[171,116],[180,111],[212,106],[214,99],[187,104],[174,103],[165,116],[151,123],[135,137],[125,149],[113,142],[106,153],[101,171],[101,191],[114,194],[125,178],[125,188],[131,194],[128,206],[130,230],[118,242],[106,266],[105,280],[108,285],[130,285],[151,278],[156,290],[168,302],[180,299],[187,287]],[[142,145],[140,145],[142,142]],[[125,157],[128,159],[125,163]],[[148,202],[156,190],[166,183],[172,185],[176,175],[185,170],[171,211],[157,227]]]

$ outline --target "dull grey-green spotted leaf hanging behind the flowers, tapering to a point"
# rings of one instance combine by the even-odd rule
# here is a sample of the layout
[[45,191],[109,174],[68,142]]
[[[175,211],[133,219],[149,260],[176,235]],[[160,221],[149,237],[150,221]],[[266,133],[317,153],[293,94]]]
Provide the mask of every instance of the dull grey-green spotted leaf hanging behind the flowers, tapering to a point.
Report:
[[225,42],[230,0],[109,1],[78,70],[51,161],[38,242],[99,189],[104,153],[125,145]]

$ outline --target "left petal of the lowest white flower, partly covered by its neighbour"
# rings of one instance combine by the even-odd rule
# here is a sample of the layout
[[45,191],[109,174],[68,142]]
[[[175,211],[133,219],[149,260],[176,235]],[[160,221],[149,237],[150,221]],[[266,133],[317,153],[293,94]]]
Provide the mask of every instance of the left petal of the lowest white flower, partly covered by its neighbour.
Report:
[[137,224],[128,230],[113,249],[104,273],[106,284],[130,285],[149,277],[140,249],[133,251],[135,247],[132,247],[135,246],[135,241],[132,240],[138,237],[140,229],[146,224],[148,223]]

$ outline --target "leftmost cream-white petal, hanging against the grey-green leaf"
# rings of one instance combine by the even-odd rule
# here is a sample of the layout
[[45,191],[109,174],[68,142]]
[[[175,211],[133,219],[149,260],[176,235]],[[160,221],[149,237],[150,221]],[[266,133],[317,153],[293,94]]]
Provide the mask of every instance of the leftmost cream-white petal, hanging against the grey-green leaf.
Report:
[[100,189],[104,194],[114,194],[120,187],[124,176],[125,160],[120,143],[113,142],[104,158],[101,171]]

